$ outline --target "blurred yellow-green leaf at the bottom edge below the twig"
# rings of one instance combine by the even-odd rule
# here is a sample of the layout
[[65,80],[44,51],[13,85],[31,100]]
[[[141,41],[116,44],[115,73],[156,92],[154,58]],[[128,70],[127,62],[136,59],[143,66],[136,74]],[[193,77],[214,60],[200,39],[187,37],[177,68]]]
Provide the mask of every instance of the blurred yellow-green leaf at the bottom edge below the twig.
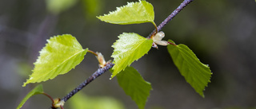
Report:
[[111,97],[92,97],[77,93],[70,99],[71,109],[124,109],[122,103]]

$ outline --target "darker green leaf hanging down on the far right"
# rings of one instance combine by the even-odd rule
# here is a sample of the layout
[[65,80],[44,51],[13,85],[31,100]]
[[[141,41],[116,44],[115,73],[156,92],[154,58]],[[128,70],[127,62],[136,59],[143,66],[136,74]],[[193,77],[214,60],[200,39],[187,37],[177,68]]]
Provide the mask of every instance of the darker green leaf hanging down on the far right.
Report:
[[[170,40],[169,40],[170,41]],[[174,41],[170,41],[174,43]],[[168,52],[174,60],[179,72],[199,95],[203,95],[207,84],[210,82],[210,68],[202,64],[198,57],[186,45],[168,45]]]

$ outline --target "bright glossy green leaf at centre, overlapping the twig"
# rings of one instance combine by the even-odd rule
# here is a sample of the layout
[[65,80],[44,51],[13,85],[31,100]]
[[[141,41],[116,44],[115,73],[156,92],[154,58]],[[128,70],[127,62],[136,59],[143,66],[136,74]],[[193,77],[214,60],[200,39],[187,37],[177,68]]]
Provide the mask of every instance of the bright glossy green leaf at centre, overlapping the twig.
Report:
[[134,60],[138,60],[150,51],[153,41],[145,37],[139,36],[137,33],[122,33],[118,36],[118,41],[114,42],[112,47],[114,53],[111,57],[114,58],[114,72],[111,78],[116,76],[130,65]]

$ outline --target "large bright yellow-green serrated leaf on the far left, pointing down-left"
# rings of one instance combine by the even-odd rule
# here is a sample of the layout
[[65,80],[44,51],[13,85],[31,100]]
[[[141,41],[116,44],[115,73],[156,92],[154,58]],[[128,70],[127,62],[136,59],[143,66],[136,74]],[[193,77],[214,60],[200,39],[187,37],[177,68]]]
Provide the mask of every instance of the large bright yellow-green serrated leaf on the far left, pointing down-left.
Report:
[[48,44],[39,53],[38,60],[34,63],[34,70],[30,79],[23,84],[39,83],[54,79],[60,74],[69,72],[80,64],[88,49],[82,46],[70,34],[51,37]]

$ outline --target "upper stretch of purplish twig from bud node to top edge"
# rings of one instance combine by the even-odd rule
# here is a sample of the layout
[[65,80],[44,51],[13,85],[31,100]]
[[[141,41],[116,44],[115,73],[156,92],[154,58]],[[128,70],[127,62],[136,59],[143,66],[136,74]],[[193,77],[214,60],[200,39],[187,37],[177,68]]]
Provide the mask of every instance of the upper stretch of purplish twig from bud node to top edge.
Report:
[[[190,2],[194,0],[184,0],[180,6],[173,13],[171,13],[160,25],[158,25],[158,32],[164,27],[169,21],[171,21],[184,7],[186,7]],[[156,29],[147,38],[150,38],[154,33],[156,33]]]

